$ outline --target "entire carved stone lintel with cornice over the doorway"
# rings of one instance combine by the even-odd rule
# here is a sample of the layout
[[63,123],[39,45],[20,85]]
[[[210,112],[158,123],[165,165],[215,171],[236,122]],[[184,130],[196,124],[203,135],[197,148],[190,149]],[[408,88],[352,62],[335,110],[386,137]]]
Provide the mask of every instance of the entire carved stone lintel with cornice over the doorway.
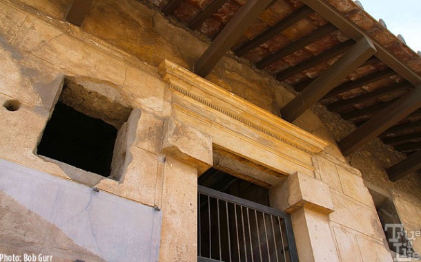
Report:
[[313,175],[311,156],[323,151],[324,140],[176,63],[165,60],[159,72],[173,91],[171,118],[207,133],[214,146],[284,175]]

